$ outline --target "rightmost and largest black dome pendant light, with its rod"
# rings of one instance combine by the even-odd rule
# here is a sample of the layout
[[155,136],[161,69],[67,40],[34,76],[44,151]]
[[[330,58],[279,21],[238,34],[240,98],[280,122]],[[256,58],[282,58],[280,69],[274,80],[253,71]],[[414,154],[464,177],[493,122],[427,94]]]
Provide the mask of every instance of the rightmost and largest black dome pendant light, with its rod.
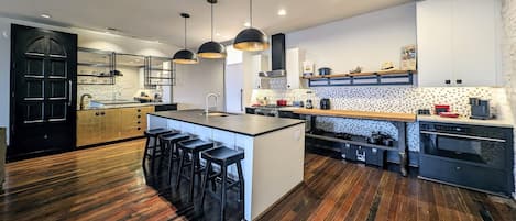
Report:
[[268,48],[267,35],[253,27],[253,0],[249,0],[250,27],[241,31],[233,42],[233,47],[241,51],[264,51]]

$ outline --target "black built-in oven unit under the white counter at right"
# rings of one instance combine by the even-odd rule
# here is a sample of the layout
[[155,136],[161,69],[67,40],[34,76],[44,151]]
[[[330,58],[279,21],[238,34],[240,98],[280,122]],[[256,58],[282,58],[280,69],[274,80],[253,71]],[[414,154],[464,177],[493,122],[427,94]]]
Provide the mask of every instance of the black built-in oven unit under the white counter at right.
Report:
[[420,123],[422,178],[509,196],[513,130],[449,123]]

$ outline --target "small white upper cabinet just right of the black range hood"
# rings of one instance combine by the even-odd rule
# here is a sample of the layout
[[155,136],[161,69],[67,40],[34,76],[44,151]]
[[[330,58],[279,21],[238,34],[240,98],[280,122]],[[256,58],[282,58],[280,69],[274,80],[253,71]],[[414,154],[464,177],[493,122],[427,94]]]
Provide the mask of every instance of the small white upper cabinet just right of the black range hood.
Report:
[[287,73],[287,89],[301,89],[305,88],[306,82],[301,80],[301,62],[305,59],[299,48],[287,49],[286,53],[286,73]]

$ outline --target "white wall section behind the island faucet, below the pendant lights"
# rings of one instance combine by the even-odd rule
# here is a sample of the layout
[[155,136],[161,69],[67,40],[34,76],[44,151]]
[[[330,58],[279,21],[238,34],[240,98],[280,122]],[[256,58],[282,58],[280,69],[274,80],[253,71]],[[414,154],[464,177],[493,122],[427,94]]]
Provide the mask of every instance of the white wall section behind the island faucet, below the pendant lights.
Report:
[[[201,59],[197,65],[176,66],[176,86],[173,88],[174,102],[179,109],[204,109],[206,95],[220,95],[217,110],[224,110],[224,62]],[[212,104],[215,101],[211,100]]]

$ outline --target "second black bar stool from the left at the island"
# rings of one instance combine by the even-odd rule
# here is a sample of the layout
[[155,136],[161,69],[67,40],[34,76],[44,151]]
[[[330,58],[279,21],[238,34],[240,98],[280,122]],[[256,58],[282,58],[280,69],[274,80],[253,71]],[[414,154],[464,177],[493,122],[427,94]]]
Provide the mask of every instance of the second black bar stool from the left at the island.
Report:
[[[168,184],[171,183],[172,179],[172,167],[174,164],[174,161],[179,163],[177,159],[179,159],[179,150],[177,148],[177,143],[180,141],[186,141],[193,139],[190,134],[187,133],[180,133],[179,131],[176,131],[176,133],[166,133],[160,135],[160,142],[164,146],[165,152],[168,155]],[[160,159],[160,165],[162,165],[163,158]],[[160,166],[161,167],[161,166]]]

